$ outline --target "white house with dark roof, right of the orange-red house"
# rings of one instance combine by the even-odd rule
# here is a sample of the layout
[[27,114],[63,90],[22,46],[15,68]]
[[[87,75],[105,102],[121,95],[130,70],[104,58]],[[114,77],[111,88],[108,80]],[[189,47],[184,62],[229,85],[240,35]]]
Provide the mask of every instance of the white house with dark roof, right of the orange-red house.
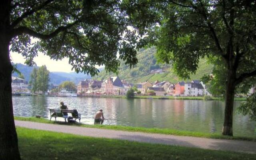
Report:
[[204,87],[201,83],[190,82],[184,85],[184,96],[203,96]]

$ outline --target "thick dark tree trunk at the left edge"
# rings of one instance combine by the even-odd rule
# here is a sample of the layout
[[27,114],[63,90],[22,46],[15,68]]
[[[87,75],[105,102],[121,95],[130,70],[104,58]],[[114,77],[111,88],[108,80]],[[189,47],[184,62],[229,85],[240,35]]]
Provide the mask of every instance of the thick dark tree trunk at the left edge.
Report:
[[[2,28],[1,28],[2,29]],[[10,38],[0,29],[0,160],[20,160],[12,109]]]

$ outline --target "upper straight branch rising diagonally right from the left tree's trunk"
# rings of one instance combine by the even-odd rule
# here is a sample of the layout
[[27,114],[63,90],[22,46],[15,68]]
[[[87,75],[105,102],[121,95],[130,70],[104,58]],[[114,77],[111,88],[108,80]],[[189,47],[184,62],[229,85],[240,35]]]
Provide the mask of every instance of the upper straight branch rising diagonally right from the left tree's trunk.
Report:
[[14,22],[12,22],[11,24],[11,28],[14,28],[15,26],[17,26],[22,20],[24,20],[24,18],[30,16],[31,14],[33,14],[34,12],[44,8],[47,4],[53,2],[54,0],[46,0],[42,5],[31,9],[30,11],[24,12],[20,17],[18,17],[16,20],[14,20]]

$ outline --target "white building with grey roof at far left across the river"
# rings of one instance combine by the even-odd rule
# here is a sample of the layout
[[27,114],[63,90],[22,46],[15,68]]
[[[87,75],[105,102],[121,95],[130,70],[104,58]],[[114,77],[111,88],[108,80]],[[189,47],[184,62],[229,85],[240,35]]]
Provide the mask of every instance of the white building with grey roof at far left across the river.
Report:
[[28,81],[12,76],[12,92],[24,92],[28,90]]

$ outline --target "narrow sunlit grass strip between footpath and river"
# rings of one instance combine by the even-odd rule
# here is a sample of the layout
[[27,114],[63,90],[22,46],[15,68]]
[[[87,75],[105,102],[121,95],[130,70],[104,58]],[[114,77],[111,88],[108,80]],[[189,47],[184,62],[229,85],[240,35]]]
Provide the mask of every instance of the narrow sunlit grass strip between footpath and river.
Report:
[[143,127],[120,126],[120,125],[90,125],[90,124],[80,124],[80,123],[68,124],[65,122],[58,122],[58,121],[55,122],[55,120],[50,121],[45,118],[35,118],[35,117],[14,117],[14,119],[15,120],[32,121],[32,122],[40,122],[40,123],[50,123],[50,124],[75,125],[75,126],[88,127],[88,128],[123,130],[123,131],[130,131],[130,132],[144,132],[144,133],[171,134],[171,135],[177,135],[177,136],[193,136],[193,137],[204,137],[204,138],[215,138],[215,139],[233,139],[233,140],[256,141],[256,137],[222,136],[221,134],[181,131],[181,130],[173,130],[173,129],[168,129],[168,128],[143,128]]

